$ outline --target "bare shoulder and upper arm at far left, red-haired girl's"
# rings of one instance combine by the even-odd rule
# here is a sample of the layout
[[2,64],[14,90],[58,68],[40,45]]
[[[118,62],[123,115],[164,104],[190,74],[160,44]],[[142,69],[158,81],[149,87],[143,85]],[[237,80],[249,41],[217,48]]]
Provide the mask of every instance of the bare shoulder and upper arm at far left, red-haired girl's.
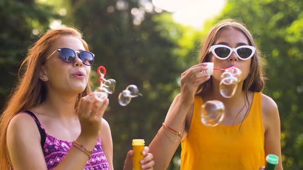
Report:
[[[30,115],[21,113],[11,119],[7,129],[7,148],[15,169],[46,169],[41,136]],[[36,161],[33,163],[29,158]]]

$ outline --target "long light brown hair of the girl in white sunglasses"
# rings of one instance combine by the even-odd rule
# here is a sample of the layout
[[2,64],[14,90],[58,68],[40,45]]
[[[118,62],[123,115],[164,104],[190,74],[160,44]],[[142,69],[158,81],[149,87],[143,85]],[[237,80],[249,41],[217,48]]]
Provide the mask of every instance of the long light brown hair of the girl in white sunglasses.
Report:
[[[222,22],[215,25],[207,33],[204,42],[202,42],[201,49],[199,52],[199,62],[202,63],[202,62],[210,61],[209,49],[211,48],[211,46],[214,45],[219,33],[226,28],[233,28],[233,29],[239,30],[247,37],[247,39],[249,40],[249,45],[256,48],[256,52],[255,52],[254,56],[252,57],[249,75],[243,81],[242,90],[244,91],[244,94],[245,94],[244,95],[244,105],[238,113],[238,115],[239,115],[240,112],[244,108],[247,108],[247,112],[245,113],[245,115],[242,119],[242,122],[243,122],[245,117],[247,117],[247,115],[249,114],[249,108],[250,108],[250,105],[248,102],[248,91],[262,92],[264,89],[265,80],[266,80],[266,77],[264,77],[264,73],[263,73],[261,53],[258,50],[258,48],[256,47],[252,34],[249,32],[249,30],[247,28],[245,28],[243,26],[242,23],[238,22],[237,20],[234,20],[234,19],[222,20]],[[206,93],[207,90],[212,88],[212,85],[213,85],[212,83],[213,83],[213,81],[212,81],[212,77],[211,77],[210,81],[206,81],[199,86],[196,94],[203,95],[204,93]],[[235,118],[235,120],[236,120],[236,118]],[[241,127],[241,125],[239,126],[239,130],[240,130],[240,127]]]

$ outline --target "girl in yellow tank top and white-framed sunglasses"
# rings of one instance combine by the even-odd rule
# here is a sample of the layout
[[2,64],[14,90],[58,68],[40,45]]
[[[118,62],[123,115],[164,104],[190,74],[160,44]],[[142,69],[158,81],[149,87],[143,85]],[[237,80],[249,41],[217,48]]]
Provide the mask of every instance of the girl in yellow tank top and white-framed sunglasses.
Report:
[[[210,50],[215,45],[223,46]],[[279,113],[276,103],[261,93],[264,77],[260,53],[241,46],[256,48],[251,33],[233,20],[217,24],[206,35],[200,63],[181,74],[181,93],[149,145],[155,169],[167,168],[180,142],[181,169],[257,170],[265,165],[268,154],[281,160]],[[230,52],[231,48],[239,50]],[[239,67],[242,78],[232,98],[224,98],[219,92],[222,71],[212,76],[205,73],[205,62],[214,62],[214,68]],[[201,122],[201,105],[209,100],[225,105],[225,117],[215,127]],[[282,169],[281,161],[276,169]]]

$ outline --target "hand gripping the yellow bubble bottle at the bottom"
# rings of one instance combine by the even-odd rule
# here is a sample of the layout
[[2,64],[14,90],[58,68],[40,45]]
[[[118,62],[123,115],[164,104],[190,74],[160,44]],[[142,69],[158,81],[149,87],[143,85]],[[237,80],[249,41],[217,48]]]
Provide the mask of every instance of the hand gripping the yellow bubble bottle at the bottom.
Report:
[[[149,148],[147,146],[144,146],[144,150],[142,151],[142,154],[144,155],[144,158],[140,161],[141,168],[144,170],[153,170],[155,162],[153,160],[154,156],[150,153],[148,153]],[[123,170],[132,170],[132,156],[134,154],[134,151],[128,151],[126,155],[126,159],[124,161],[124,167]]]

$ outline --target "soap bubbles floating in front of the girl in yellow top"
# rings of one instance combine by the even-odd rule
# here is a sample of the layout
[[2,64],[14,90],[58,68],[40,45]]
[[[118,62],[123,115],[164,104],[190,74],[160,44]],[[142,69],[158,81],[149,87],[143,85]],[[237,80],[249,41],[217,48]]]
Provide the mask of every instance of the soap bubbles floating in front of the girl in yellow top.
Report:
[[[238,83],[241,80],[242,72],[238,67],[230,67],[223,70],[219,85],[220,94],[224,98],[231,98],[235,95]],[[212,72],[212,71],[211,71]],[[224,118],[224,104],[219,100],[210,100],[203,103],[201,107],[201,121],[206,126],[216,126]]]

